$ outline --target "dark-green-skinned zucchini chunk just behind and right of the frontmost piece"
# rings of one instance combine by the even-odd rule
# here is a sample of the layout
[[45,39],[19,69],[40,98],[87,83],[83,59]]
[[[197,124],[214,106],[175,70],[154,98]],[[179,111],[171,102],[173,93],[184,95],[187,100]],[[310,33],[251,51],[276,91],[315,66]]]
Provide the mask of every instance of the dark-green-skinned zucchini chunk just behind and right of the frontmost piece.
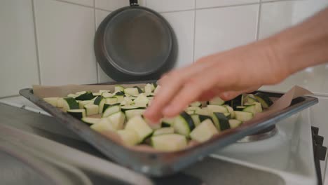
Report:
[[179,116],[175,118],[173,128],[175,128],[175,132],[178,134],[189,137],[191,130],[195,128],[195,123],[193,123],[191,116],[183,111]]

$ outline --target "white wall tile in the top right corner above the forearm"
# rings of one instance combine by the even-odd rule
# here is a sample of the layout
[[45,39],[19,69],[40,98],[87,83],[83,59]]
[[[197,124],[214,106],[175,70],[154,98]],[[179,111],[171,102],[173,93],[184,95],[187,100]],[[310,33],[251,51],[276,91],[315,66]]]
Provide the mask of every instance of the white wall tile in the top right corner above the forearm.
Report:
[[262,4],[259,38],[271,36],[296,25],[328,6],[328,0],[275,1]]

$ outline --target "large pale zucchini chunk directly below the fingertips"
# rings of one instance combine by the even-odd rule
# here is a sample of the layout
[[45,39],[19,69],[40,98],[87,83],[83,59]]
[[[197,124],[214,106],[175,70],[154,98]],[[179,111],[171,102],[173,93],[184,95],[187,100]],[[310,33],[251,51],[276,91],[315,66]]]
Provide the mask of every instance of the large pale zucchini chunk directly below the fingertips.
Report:
[[125,125],[125,130],[134,130],[137,132],[139,142],[144,141],[146,137],[149,137],[149,135],[153,133],[153,130],[151,130],[149,125],[141,116],[130,118],[128,123]]

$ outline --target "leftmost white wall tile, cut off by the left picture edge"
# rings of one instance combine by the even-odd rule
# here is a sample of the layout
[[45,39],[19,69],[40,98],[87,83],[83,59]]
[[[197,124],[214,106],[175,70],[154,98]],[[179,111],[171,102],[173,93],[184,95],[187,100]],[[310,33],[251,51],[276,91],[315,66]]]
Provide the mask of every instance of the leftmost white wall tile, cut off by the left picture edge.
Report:
[[38,83],[32,1],[0,1],[0,97]]

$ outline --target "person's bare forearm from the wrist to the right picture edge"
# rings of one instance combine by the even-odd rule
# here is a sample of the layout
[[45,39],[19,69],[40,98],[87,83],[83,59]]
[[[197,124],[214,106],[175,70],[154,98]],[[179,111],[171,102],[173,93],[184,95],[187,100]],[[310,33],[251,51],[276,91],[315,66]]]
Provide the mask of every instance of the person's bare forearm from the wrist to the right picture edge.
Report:
[[328,62],[328,8],[268,40],[287,75]]

